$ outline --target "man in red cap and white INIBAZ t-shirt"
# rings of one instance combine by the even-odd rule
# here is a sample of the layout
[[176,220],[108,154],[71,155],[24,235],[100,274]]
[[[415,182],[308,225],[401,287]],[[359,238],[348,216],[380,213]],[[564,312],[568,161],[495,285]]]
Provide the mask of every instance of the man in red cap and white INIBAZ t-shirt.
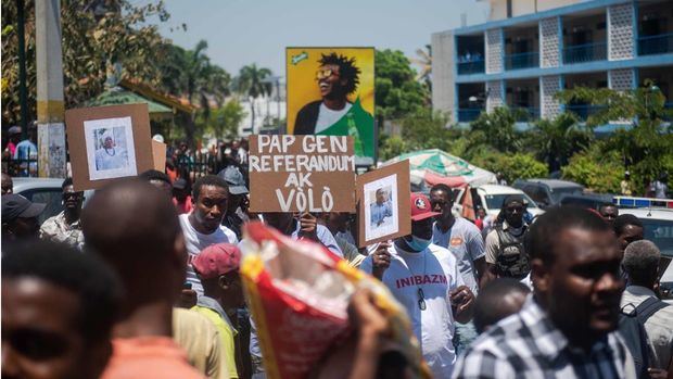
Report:
[[406,307],[433,377],[450,378],[454,324],[472,318],[474,295],[453,253],[432,243],[432,217],[439,215],[426,195],[412,193],[411,235],[379,244],[360,269],[383,281]]

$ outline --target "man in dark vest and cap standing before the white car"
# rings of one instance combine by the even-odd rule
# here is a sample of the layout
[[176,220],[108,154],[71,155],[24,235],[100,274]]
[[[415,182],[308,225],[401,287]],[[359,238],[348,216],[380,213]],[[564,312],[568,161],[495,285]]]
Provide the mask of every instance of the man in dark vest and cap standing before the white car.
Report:
[[[487,279],[524,279],[531,271],[529,255],[523,248],[528,225],[523,222],[525,201],[519,194],[510,194],[503,201],[498,218],[501,224],[486,236]],[[483,280],[482,285],[484,283]]]

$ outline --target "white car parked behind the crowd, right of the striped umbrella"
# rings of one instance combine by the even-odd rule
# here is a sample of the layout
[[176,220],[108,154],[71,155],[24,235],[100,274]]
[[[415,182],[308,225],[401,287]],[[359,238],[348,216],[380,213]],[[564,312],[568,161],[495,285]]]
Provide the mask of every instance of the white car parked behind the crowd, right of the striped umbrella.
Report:
[[[470,194],[472,195],[472,205],[474,209],[477,206],[483,206],[486,214],[490,216],[497,216],[503,207],[503,202],[505,198],[510,194],[520,194],[528,202],[528,212],[530,212],[533,217],[538,216],[544,213],[541,210],[535,201],[533,201],[528,194],[525,194],[520,189],[516,189],[508,186],[499,186],[499,185],[483,185],[475,188],[470,189]],[[465,189],[459,189],[455,193],[455,203],[454,211],[458,212],[458,214],[462,211],[462,199],[465,197]]]

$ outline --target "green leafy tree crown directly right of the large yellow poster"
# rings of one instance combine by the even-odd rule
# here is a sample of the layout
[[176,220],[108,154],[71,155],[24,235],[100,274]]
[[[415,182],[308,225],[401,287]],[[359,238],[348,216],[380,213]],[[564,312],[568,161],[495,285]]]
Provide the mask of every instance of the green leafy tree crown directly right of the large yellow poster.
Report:
[[402,51],[377,50],[374,64],[377,115],[396,119],[428,103],[430,93],[416,81],[416,72]]

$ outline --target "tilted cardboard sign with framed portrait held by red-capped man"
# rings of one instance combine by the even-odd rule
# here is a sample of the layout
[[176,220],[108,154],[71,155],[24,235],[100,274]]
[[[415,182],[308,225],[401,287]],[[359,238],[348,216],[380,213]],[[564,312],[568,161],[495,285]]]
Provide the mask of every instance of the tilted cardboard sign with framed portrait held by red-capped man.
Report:
[[360,248],[411,233],[408,160],[359,175],[356,187]]

